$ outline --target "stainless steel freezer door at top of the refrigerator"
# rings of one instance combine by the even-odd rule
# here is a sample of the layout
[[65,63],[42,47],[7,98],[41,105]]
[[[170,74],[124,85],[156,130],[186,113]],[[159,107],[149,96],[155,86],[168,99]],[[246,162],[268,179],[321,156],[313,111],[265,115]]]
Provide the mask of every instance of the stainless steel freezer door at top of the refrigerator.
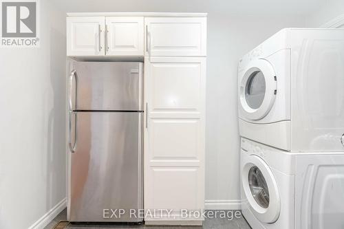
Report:
[[72,110],[142,110],[142,63],[74,62],[71,75]]

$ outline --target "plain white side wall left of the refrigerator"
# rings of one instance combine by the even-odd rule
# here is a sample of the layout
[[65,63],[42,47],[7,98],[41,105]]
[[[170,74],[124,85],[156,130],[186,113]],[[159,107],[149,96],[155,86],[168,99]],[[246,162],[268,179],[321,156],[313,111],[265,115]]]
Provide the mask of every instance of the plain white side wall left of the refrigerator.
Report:
[[41,47],[0,50],[1,229],[65,199],[65,19],[40,2]]

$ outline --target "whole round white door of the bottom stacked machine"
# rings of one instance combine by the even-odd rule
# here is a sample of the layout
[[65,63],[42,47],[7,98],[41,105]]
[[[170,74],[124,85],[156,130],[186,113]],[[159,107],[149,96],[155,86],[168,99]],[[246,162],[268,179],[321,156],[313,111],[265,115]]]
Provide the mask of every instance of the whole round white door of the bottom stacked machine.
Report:
[[281,209],[279,191],[272,171],[256,155],[248,156],[241,180],[250,210],[259,221],[274,223]]

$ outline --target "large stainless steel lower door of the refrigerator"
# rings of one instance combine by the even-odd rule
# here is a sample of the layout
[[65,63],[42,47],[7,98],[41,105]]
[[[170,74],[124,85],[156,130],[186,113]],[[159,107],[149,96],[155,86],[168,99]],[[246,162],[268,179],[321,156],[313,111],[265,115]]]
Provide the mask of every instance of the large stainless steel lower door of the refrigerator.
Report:
[[69,161],[69,221],[142,221],[137,214],[143,208],[142,113],[72,116],[76,142]]

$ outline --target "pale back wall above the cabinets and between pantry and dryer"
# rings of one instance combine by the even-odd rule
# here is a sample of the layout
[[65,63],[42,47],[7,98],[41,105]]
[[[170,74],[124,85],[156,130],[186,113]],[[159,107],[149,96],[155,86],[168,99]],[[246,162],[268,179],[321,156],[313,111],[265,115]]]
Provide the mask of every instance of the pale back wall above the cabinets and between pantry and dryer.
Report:
[[[238,208],[240,196],[237,63],[246,52],[281,28],[304,26],[305,18],[299,14],[302,9],[311,7],[308,4],[311,1],[288,1],[286,8],[283,8],[281,3],[269,0],[259,3],[251,1],[250,4],[223,0],[54,1],[65,12],[209,13],[206,84],[207,207]],[[264,1],[279,10],[268,10],[266,5],[264,6]],[[299,6],[299,14],[292,14],[295,11],[292,6]],[[242,16],[235,16],[239,12]],[[273,16],[264,16],[267,12]]]

